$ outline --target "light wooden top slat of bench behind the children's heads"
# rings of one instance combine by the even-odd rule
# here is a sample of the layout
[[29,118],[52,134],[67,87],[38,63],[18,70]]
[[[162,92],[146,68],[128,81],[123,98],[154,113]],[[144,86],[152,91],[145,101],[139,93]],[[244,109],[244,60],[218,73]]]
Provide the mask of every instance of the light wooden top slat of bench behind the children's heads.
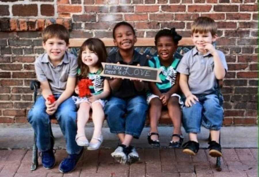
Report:
[[[114,47],[113,38],[100,38],[106,47]],[[146,47],[146,46],[155,46],[154,38],[137,38],[138,41],[134,45],[135,47]],[[86,38],[71,38],[69,40],[69,47],[81,47]],[[178,46],[193,46],[191,38],[182,38],[179,41]]]

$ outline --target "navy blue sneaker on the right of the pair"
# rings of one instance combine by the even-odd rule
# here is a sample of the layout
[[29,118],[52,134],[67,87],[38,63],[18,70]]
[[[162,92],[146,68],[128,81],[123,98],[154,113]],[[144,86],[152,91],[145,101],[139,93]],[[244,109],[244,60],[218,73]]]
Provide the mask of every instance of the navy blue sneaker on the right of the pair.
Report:
[[80,159],[81,155],[84,152],[84,148],[82,148],[79,154],[68,154],[66,158],[62,160],[59,165],[59,171],[62,173],[72,172],[75,169],[75,166]]

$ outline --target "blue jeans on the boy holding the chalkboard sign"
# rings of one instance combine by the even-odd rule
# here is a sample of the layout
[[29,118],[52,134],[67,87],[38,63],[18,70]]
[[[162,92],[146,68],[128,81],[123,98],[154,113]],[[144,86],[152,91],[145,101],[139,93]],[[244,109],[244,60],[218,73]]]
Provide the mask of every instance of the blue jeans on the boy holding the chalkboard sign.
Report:
[[147,108],[144,96],[111,97],[104,109],[111,133],[125,133],[138,139],[145,125]]

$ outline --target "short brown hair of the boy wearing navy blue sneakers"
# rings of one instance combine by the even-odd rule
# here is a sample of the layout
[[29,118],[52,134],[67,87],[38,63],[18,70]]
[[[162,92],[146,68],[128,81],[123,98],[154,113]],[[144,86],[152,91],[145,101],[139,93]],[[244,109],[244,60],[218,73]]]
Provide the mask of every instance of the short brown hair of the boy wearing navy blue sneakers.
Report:
[[42,32],[43,42],[45,43],[50,38],[59,38],[69,44],[69,32],[63,25],[52,24],[47,26]]

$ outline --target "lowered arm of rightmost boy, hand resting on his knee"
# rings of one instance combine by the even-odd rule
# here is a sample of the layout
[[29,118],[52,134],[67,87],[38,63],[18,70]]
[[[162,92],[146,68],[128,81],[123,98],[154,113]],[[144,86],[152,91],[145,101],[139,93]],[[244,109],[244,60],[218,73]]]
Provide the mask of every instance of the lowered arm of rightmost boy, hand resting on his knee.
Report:
[[185,106],[190,107],[192,106],[192,103],[195,104],[195,100],[199,101],[199,99],[195,95],[193,95],[189,89],[188,75],[180,73],[179,84],[182,89],[182,92],[184,93],[184,96],[186,97],[186,100],[184,103]]

